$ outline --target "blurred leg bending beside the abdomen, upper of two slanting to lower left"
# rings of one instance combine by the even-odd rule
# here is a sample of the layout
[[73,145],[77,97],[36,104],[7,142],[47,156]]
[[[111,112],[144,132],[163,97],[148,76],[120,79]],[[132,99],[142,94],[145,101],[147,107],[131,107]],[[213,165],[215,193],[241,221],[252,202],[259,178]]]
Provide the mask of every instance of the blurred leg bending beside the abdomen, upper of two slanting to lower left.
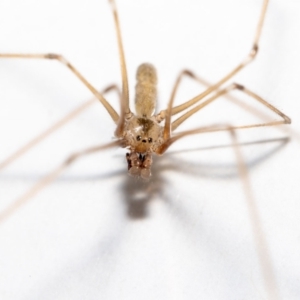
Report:
[[[106,94],[112,90],[116,90],[119,97],[120,97],[120,91],[119,88],[116,85],[110,85],[107,88],[105,88],[102,93]],[[20,158],[22,155],[24,155],[27,151],[29,151],[32,147],[36,146],[38,143],[43,141],[46,137],[50,136],[52,133],[57,131],[59,128],[66,125],[69,121],[74,119],[76,116],[78,116],[80,113],[82,113],[85,109],[90,107],[91,104],[95,103],[96,99],[91,99],[80,106],[78,106],[76,109],[71,111],[68,115],[57,121],[55,124],[53,124],[51,127],[47,128],[44,132],[40,133],[37,137],[33,138],[31,141],[26,143],[24,146],[19,148],[17,151],[15,151],[13,154],[11,154],[9,157],[4,159],[0,163],[0,170],[7,167],[9,164],[11,164],[16,159]]]

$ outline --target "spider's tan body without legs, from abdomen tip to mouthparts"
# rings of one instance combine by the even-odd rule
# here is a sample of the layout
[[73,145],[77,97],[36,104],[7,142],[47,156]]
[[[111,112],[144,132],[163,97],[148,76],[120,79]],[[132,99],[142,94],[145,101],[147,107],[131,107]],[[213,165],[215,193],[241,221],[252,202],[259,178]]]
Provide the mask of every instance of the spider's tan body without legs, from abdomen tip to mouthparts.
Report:
[[163,143],[163,127],[153,115],[156,106],[155,68],[142,64],[137,70],[135,108],[125,120],[123,144],[130,150],[126,154],[128,173],[148,179],[151,176],[151,154]]

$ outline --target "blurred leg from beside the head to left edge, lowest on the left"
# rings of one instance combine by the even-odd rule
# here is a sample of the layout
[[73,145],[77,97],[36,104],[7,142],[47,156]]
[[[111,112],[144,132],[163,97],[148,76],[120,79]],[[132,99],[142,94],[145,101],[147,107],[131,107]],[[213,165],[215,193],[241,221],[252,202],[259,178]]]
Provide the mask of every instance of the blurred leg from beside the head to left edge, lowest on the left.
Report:
[[0,223],[6,220],[16,209],[24,205],[28,202],[33,196],[35,196],[39,191],[53,182],[67,167],[69,167],[72,163],[74,163],[78,158],[98,152],[101,150],[109,149],[112,147],[116,147],[120,145],[119,141],[114,141],[106,145],[96,146],[92,148],[88,148],[86,150],[74,153],[70,155],[58,168],[53,170],[47,176],[39,180],[35,185],[33,185],[25,194],[15,200],[11,205],[9,205],[6,209],[4,209],[0,213]]

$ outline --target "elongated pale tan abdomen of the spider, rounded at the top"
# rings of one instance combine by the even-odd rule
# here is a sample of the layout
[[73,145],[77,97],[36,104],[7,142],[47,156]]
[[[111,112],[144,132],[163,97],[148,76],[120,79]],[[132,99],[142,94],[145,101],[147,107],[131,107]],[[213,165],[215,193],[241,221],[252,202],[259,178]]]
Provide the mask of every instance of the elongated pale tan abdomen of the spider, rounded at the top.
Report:
[[135,110],[139,117],[151,117],[157,98],[157,75],[153,65],[141,64],[136,72]]

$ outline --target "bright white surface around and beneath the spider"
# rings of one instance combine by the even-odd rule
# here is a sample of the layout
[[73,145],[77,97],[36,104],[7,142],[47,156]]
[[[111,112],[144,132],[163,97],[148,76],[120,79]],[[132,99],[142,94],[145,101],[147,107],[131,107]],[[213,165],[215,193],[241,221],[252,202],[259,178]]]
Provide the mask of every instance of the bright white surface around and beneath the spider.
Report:
[[[157,66],[160,108],[183,68],[212,82],[221,78],[250,50],[261,2],[117,1],[131,98],[144,61]],[[271,1],[259,55],[234,79],[290,116],[298,131],[299,9],[299,1]],[[96,87],[120,83],[106,0],[2,0],[0,41],[1,52],[61,53]],[[186,80],[177,103],[201,90]],[[89,97],[56,62],[1,60],[0,159]],[[223,107],[213,104],[183,128],[243,121]],[[69,153],[109,142],[113,131],[95,104],[1,173],[1,209]],[[240,141],[286,136],[256,129]],[[122,149],[78,162],[0,224],[0,298],[267,299],[232,149],[178,153],[216,145],[230,139],[183,140],[156,159],[148,185],[126,175]],[[299,143],[279,146],[242,150],[280,298],[299,299]]]

